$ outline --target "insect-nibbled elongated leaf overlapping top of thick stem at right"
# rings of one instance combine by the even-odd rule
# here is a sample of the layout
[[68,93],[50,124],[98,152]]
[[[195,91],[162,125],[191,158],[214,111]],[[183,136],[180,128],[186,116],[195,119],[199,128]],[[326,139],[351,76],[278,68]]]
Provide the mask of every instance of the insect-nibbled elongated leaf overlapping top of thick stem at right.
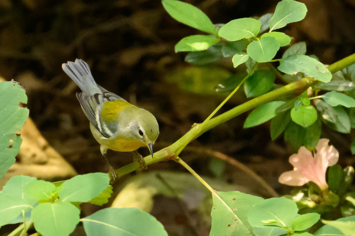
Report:
[[277,68],[286,74],[295,74],[299,71],[304,72],[307,76],[325,83],[332,79],[332,74],[321,62],[306,55],[293,54],[282,58],[280,66]]

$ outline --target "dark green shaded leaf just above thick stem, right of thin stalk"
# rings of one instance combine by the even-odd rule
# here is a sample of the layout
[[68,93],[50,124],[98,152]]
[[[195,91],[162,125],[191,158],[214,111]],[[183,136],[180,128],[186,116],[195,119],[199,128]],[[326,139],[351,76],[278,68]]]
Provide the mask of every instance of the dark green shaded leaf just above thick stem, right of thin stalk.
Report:
[[275,72],[261,69],[254,72],[244,83],[246,97],[257,97],[266,94],[274,85]]

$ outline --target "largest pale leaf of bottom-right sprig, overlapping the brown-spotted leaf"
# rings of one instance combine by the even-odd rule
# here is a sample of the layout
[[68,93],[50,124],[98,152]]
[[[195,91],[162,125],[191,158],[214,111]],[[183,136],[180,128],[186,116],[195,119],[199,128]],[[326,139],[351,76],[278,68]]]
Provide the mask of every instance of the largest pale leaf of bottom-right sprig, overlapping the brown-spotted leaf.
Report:
[[295,202],[285,197],[274,197],[258,202],[249,210],[248,221],[253,227],[263,227],[263,220],[274,220],[279,227],[291,227],[292,220],[297,217],[298,208]]

